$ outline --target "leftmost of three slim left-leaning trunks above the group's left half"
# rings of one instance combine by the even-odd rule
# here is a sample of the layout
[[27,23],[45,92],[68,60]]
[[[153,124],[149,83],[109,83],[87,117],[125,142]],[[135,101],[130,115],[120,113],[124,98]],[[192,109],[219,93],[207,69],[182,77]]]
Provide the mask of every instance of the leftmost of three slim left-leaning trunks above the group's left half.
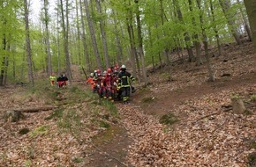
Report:
[[86,60],[86,64],[87,64],[87,70],[91,71],[91,64],[90,64],[90,58],[89,58],[89,54],[88,54],[88,48],[87,48],[87,36],[86,36],[86,25],[85,25],[85,20],[84,20],[84,12],[83,12],[83,7],[82,7],[82,1],[79,0],[79,4],[80,4],[80,17],[81,17],[81,24],[82,24],[82,38],[83,38],[83,47],[84,47],[84,57]]

